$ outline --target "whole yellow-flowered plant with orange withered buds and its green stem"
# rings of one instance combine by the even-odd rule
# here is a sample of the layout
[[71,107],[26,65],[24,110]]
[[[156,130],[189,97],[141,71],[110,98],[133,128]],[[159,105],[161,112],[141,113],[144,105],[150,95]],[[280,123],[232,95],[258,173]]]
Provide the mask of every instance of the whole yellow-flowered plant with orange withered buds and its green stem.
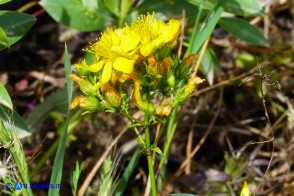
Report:
[[[151,14],[130,26],[109,28],[87,49],[93,58],[76,64],[77,75],[70,75],[83,92],[72,101],[71,109],[79,106],[86,112],[119,112],[132,122],[147,156],[153,195],[156,185],[151,154],[161,154],[161,150],[157,147],[159,138],[150,139],[149,126],[164,124],[172,110],[203,81],[189,74],[197,55],[183,60],[172,55],[179,28],[179,21],[164,23]],[[178,87],[179,83],[185,85]],[[144,120],[132,115],[134,107],[145,113]],[[144,127],[145,139],[138,127]]]

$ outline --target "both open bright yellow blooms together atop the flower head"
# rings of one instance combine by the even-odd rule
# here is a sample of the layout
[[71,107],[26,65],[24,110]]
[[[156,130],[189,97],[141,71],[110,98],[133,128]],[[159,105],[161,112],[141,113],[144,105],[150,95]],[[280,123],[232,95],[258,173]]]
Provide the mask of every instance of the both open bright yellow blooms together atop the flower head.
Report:
[[147,57],[165,44],[173,43],[178,37],[180,23],[170,20],[164,23],[153,15],[141,16],[131,26],[121,29],[107,29],[101,38],[89,49],[96,62],[87,65],[85,61],[77,68],[89,72],[102,70],[98,86],[110,81],[113,70],[124,74],[133,72],[136,61]]

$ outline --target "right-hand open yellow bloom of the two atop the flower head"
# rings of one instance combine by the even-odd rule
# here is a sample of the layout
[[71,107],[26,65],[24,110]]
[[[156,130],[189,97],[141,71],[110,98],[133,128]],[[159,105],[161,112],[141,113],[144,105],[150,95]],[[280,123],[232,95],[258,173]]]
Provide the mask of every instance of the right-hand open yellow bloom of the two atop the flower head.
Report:
[[171,19],[166,24],[148,14],[141,16],[131,28],[140,39],[140,53],[146,57],[164,44],[172,43],[179,35],[180,23]]

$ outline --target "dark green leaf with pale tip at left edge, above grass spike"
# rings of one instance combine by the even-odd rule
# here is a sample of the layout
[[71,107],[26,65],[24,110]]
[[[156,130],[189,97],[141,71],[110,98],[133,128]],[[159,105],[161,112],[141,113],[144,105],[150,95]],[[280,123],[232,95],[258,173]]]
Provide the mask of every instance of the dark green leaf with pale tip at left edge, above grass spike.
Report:
[[0,119],[9,133],[15,129],[17,137],[23,139],[31,135],[22,117],[15,111],[0,105]]

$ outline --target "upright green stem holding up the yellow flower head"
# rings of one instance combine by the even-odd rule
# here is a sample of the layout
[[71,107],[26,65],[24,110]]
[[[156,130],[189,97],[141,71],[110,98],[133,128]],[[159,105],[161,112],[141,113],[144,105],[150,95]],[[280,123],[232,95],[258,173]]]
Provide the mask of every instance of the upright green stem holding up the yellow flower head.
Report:
[[[145,113],[145,123],[148,123],[148,114]],[[145,127],[145,139],[146,139],[146,147],[147,147],[147,161],[148,161],[148,170],[149,170],[149,176],[151,181],[151,192],[152,196],[156,196],[156,184],[155,184],[155,175],[154,175],[154,169],[152,164],[152,152],[150,150],[150,135],[149,135],[149,126]]]

